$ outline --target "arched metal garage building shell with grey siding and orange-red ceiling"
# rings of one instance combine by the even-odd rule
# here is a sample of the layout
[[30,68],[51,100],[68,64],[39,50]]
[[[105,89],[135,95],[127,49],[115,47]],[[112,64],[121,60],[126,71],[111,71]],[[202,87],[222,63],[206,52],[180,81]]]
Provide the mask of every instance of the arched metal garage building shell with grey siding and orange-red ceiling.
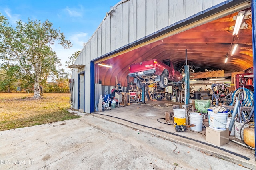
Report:
[[[70,66],[72,108],[94,112],[96,84],[110,89],[118,78],[126,85],[129,65],[152,58],[171,58],[180,67],[185,49],[190,62],[203,69],[231,73],[255,67],[255,8],[256,0],[121,0],[106,13]],[[233,36],[240,11],[245,11],[246,22],[239,36]],[[234,43],[241,45],[240,51],[230,56]],[[224,64],[225,58],[228,64]],[[98,63],[113,68],[99,68]]]

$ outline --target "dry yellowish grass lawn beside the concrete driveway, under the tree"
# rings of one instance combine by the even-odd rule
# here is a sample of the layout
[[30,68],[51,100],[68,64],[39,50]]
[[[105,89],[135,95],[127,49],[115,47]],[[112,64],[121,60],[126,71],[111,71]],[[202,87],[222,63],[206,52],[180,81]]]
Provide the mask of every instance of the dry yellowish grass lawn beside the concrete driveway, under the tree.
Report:
[[0,93],[0,131],[78,118],[69,109],[68,93]]

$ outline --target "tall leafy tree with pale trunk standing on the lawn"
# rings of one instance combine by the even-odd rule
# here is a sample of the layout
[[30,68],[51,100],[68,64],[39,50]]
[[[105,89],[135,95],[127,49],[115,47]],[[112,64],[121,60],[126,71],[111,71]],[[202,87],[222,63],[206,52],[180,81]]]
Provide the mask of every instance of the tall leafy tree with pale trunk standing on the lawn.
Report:
[[19,20],[14,28],[0,14],[0,59],[18,65],[28,79],[33,79],[34,98],[40,97],[42,79],[50,74],[58,75],[56,66],[60,66],[60,60],[51,45],[58,41],[64,49],[72,47],[64,34],[52,25],[48,20],[28,19],[27,23]]

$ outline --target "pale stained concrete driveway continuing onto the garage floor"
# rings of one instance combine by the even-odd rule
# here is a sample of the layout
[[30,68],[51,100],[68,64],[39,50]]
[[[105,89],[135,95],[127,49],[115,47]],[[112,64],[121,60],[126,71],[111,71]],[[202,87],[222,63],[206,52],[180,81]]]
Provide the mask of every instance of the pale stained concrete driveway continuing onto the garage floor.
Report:
[[[1,131],[0,169],[243,170],[255,167],[252,160],[254,152],[246,152],[250,160],[245,160],[218,148],[114,118],[129,118],[130,121],[173,132],[173,127],[155,119],[163,117],[164,110],[168,108],[132,105],[102,112],[113,117],[76,112],[82,117]],[[203,140],[203,137],[198,137],[203,134],[181,133]],[[222,146],[228,147],[239,148],[230,142]]]

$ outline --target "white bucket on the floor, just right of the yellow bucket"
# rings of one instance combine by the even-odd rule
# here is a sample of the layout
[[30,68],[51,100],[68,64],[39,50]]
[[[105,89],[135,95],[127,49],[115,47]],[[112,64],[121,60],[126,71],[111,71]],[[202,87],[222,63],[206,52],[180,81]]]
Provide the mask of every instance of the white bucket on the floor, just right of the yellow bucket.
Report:
[[203,120],[204,116],[201,113],[189,112],[188,116],[190,118],[190,124],[194,124],[194,127],[190,127],[191,130],[196,132],[201,132],[203,130]]

